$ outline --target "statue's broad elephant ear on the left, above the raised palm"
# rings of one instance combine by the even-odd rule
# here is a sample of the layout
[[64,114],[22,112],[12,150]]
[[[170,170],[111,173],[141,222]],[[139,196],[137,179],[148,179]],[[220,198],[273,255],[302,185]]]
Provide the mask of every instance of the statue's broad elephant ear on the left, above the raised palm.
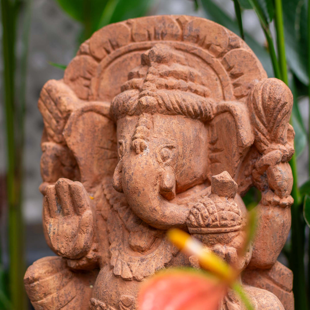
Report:
[[86,103],[70,115],[63,132],[89,192],[104,177],[113,175],[118,162],[116,127],[109,109],[109,103]]

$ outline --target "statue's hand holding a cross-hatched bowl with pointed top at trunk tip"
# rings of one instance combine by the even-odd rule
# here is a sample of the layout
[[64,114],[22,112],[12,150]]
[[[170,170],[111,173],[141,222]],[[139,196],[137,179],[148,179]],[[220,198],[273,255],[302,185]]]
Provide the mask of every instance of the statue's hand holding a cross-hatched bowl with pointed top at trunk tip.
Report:
[[[188,231],[204,246],[238,270],[250,261],[251,248],[239,257],[246,237],[246,220],[234,200],[238,185],[227,171],[211,178],[211,194],[197,202],[187,219]],[[197,267],[193,257],[190,262]]]

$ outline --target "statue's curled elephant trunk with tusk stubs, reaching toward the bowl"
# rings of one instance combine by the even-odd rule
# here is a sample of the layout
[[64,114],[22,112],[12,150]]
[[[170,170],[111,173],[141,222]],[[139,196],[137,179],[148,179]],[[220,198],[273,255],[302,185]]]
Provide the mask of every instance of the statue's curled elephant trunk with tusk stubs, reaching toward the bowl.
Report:
[[[126,195],[133,212],[158,229],[185,228],[189,210],[171,203],[175,197],[175,175],[160,166],[146,149],[122,158],[115,169],[113,187]],[[167,198],[167,199],[166,199]]]

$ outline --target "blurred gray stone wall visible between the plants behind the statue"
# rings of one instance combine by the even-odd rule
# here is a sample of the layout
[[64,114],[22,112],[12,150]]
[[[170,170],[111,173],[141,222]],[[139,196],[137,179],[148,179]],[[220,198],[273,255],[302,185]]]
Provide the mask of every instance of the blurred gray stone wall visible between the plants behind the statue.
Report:
[[[129,0],[130,1],[130,0]],[[217,0],[221,7],[234,16],[233,2],[231,0]],[[149,15],[157,14],[187,14],[205,17],[202,10],[194,11],[193,2],[190,0],[154,0]],[[260,43],[264,43],[264,35],[259,21],[252,11],[243,12],[244,28],[252,34]],[[27,73],[27,110],[26,110],[26,144],[24,155],[24,218],[28,225],[27,249],[30,253],[28,261],[31,262],[44,254],[50,254],[44,243],[42,235],[41,212],[42,196],[38,191],[41,183],[40,176],[40,139],[43,122],[37,108],[37,100],[43,84],[51,79],[60,79],[63,71],[48,64],[52,61],[60,64],[68,64],[77,51],[77,36],[81,30],[80,25],[66,15],[54,0],[32,0],[32,21],[29,37],[29,58]],[[0,40],[2,39],[2,29]],[[20,40],[17,42],[17,55],[23,48]],[[0,63],[2,73],[3,64]],[[2,74],[0,76],[0,90],[3,94]],[[3,99],[1,96],[1,102]],[[308,115],[308,100],[300,104],[305,123]],[[4,173],[6,166],[5,155],[4,119],[0,109],[0,175]],[[299,183],[307,179],[308,155],[305,151],[298,159]],[[34,242],[35,241],[35,242]],[[37,249],[34,253],[32,250]],[[39,252],[38,252],[39,251]],[[33,254],[31,254],[33,253]]]

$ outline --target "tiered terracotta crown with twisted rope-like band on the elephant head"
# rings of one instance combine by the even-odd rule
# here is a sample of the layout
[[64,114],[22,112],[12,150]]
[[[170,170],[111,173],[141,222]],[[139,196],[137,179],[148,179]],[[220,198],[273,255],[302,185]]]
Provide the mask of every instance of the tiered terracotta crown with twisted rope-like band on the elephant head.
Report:
[[162,113],[207,121],[212,119],[210,89],[199,71],[174,48],[157,44],[141,55],[141,65],[128,74],[112,104],[115,119]]

